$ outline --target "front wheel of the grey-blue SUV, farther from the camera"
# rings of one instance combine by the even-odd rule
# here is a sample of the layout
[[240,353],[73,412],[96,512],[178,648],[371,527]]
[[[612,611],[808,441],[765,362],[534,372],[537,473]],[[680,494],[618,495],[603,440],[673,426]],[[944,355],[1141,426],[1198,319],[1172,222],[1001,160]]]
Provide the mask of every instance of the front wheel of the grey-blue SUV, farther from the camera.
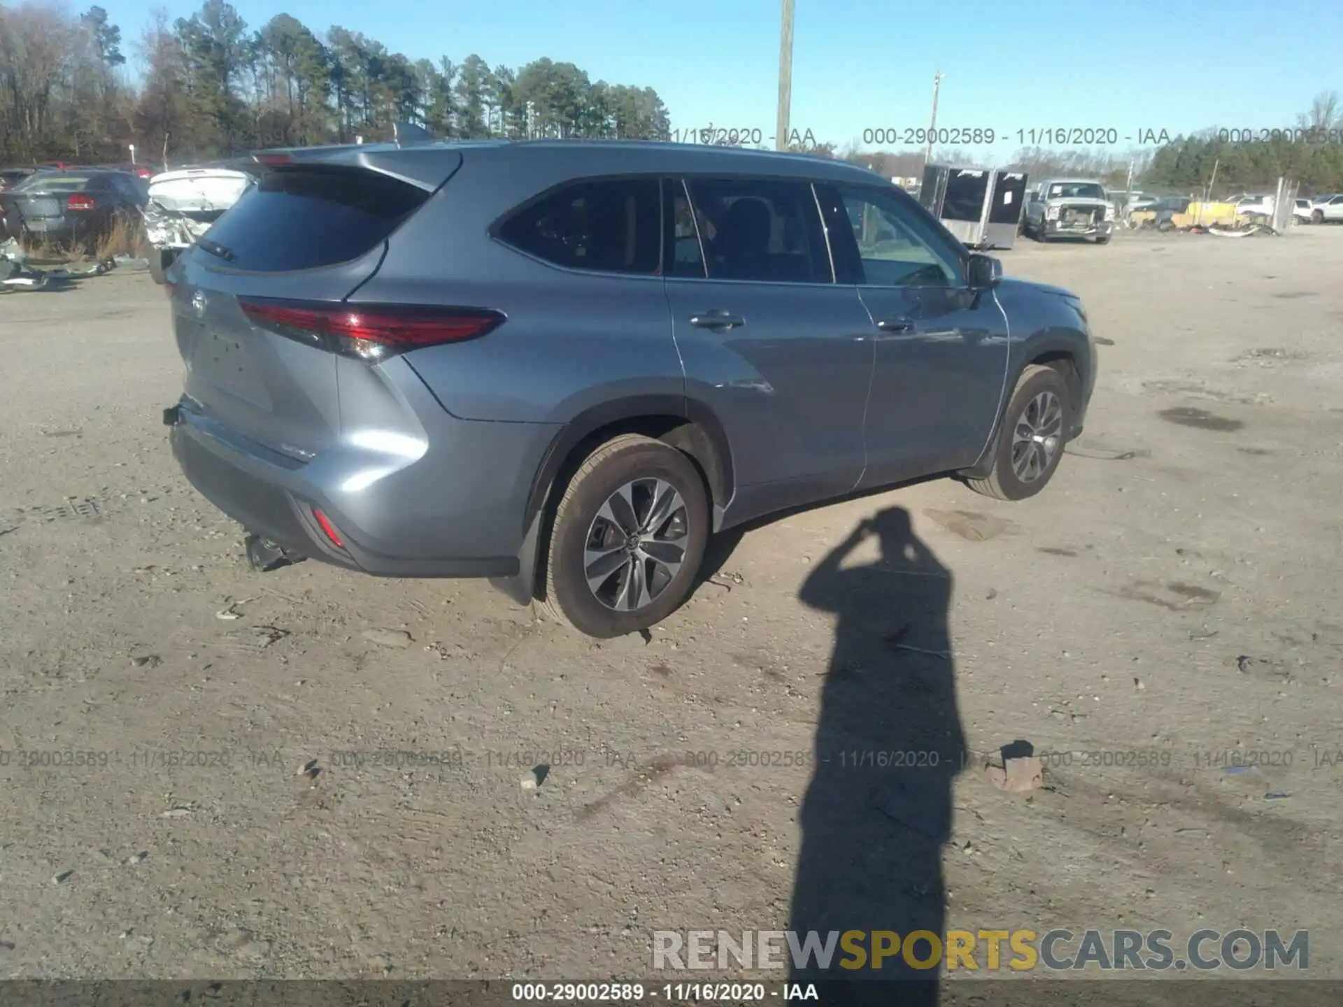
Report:
[[1031,364],[1017,381],[994,446],[994,467],[970,489],[994,499],[1026,499],[1053,478],[1073,422],[1072,392],[1052,367]]

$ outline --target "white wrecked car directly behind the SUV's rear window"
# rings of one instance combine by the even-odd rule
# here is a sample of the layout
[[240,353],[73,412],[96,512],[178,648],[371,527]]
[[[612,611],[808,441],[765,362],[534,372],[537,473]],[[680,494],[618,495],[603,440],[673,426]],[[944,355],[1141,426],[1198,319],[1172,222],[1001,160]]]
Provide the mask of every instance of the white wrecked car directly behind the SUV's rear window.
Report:
[[145,236],[153,246],[149,274],[156,283],[164,282],[173,259],[242,199],[257,177],[255,165],[230,162],[179,168],[149,180]]

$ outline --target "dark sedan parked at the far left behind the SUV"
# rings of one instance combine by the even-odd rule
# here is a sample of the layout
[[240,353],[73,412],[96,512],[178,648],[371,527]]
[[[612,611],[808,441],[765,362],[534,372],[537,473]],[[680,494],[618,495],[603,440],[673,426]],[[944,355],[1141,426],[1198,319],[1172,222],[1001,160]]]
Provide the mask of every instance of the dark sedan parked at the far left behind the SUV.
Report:
[[140,220],[149,185],[126,172],[39,171],[0,193],[5,238],[87,244],[117,223]]

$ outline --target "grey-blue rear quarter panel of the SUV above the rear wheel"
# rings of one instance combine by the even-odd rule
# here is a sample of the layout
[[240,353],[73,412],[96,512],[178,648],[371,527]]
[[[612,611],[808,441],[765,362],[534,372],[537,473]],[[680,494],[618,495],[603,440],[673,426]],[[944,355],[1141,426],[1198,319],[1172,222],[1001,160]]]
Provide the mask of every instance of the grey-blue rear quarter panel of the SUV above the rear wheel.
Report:
[[489,235],[501,215],[564,172],[556,158],[469,156],[351,297],[492,307],[508,317],[483,338],[407,357],[458,419],[567,423],[611,399],[685,393],[661,277],[563,270]]

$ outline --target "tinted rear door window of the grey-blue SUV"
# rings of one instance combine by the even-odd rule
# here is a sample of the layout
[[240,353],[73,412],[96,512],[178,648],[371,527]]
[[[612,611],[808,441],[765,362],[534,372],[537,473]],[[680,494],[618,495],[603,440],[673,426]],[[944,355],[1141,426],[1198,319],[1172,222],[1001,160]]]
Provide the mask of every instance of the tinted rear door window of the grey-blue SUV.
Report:
[[688,179],[686,188],[709,279],[834,282],[808,183]]

